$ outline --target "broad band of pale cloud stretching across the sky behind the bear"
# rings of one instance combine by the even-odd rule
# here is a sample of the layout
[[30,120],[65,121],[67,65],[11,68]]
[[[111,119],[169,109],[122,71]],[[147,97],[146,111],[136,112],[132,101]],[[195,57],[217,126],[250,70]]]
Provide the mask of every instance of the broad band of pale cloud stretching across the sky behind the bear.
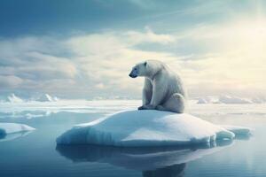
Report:
[[143,80],[129,78],[129,71],[145,59],[159,59],[181,73],[191,96],[263,95],[264,29],[244,21],[202,25],[178,34],[158,34],[146,27],[60,39],[5,39],[0,41],[0,85],[67,97],[140,97]]

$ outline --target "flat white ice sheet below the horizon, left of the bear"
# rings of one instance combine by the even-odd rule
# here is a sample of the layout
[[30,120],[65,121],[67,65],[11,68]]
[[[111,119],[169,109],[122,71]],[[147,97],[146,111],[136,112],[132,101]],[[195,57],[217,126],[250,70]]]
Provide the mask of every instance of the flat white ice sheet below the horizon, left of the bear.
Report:
[[[0,119],[2,117],[39,118],[58,112],[74,113],[104,113],[110,114],[118,111],[136,109],[141,104],[140,100],[64,100],[56,102],[28,101],[23,103],[1,103]],[[30,112],[30,114],[28,114]],[[37,113],[36,113],[37,112]],[[43,115],[43,116],[42,116]]]

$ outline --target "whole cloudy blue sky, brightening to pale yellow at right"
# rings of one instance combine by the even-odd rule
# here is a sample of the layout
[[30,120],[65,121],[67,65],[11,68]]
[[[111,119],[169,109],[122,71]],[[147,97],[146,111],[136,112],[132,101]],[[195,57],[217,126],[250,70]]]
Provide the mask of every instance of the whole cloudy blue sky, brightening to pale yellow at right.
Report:
[[0,95],[140,98],[158,59],[195,96],[266,96],[266,2],[1,0]]

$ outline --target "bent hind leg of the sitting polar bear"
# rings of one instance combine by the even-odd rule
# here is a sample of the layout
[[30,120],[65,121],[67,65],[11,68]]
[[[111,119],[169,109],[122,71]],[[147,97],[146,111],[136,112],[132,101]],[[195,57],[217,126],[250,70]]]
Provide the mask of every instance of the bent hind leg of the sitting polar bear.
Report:
[[181,94],[173,94],[169,97],[166,103],[158,105],[156,110],[183,113],[184,112],[184,96]]

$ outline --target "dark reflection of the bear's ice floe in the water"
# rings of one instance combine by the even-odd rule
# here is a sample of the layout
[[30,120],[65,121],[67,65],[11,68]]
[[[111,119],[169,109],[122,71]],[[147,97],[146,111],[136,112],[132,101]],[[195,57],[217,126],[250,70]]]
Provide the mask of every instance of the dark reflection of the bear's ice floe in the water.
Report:
[[223,150],[231,141],[187,147],[118,148],[58,145],[56,150],[74,163],[98,162],[142,171],[143,176],[183,176],[187,162]]

